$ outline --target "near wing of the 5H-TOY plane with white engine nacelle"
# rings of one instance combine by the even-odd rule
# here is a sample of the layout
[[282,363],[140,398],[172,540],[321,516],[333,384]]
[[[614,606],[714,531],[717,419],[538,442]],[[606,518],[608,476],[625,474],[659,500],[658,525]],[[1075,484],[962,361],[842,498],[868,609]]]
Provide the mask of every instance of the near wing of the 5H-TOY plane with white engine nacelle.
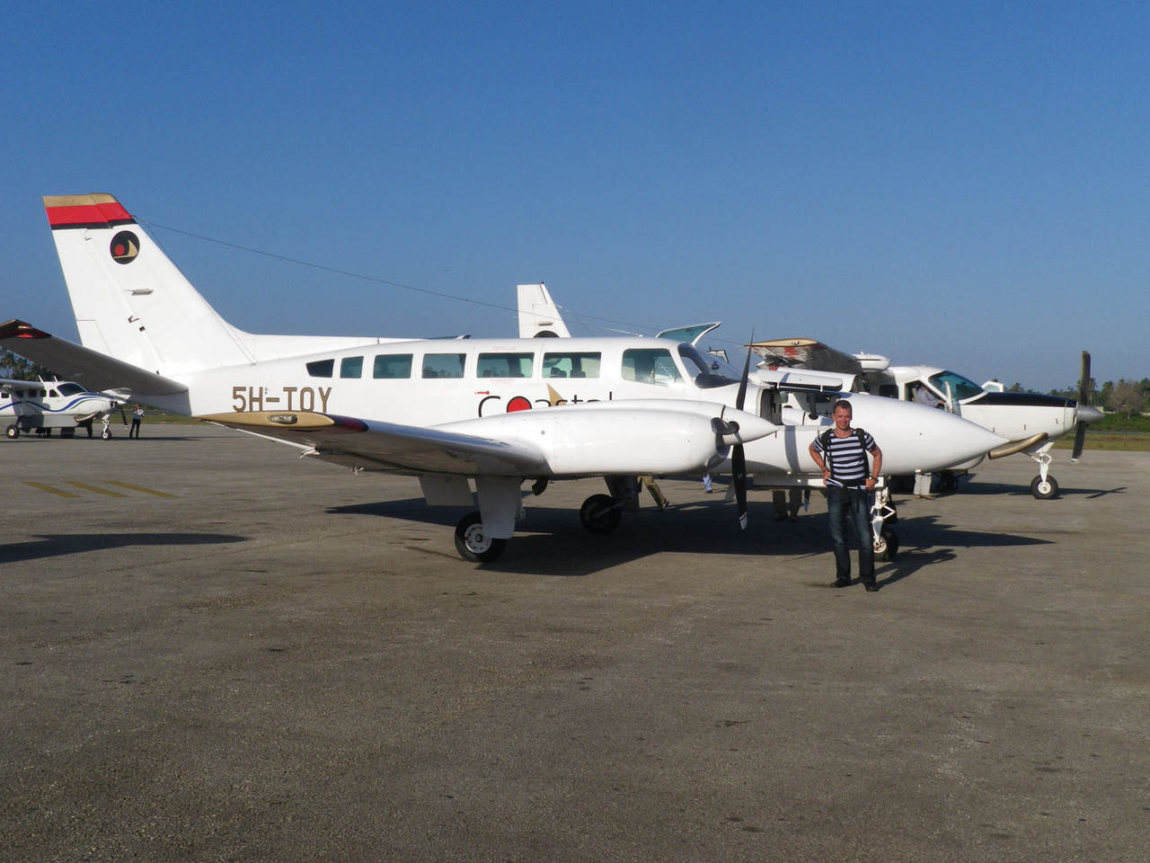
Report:
[[705,471],[777,427],[720,404],[635,399],[518,411],[436,428],[305,411],[198,419],[337,464],[408,474],[595,476]]

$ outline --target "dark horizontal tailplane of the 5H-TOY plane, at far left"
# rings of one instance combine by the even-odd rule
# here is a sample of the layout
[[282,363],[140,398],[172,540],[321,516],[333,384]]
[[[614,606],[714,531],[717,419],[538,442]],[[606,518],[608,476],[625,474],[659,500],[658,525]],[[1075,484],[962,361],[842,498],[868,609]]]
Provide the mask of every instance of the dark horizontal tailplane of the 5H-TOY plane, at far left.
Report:
[[93,392],[128,389],[138,396],[172,396],[187,390],[178,381],[152,374],[15,319],[0,323],[0,345]]

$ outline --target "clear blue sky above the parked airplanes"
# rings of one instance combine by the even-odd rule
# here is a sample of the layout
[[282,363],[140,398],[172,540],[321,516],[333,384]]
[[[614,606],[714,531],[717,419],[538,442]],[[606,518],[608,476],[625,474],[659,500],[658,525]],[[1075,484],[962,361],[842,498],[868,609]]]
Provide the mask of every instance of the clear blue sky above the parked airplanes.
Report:
[[40,198],[112,192],[250,331],[544,281],[575,335],[1150,376],[1144,3],[20,3],[0,72],[0,319],[69,338]]

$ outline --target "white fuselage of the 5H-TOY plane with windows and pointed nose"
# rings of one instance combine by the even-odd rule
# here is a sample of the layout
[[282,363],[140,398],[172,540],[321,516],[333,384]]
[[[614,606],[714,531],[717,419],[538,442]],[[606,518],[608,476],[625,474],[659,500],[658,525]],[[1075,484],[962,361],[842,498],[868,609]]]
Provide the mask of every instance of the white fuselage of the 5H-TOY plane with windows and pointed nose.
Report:
[[[186,394],[150,400],[198,417],[315,412],[431,428],[596,402],[733,406],[738,390],[691,345],[622,337],[386,342],[175,377],[187,384]],[[777,390],[753,383],[747,390],[744,410],[781,426],[746,443],[747,471],[764,484],[818,484],[808,446],[830,426],[833,398],[812,415],[773,413],[772,395]],[[891,472],[940,469],[1002,442],[919,405],[838,395],[854,405],[856,425],[875,436]],[[352,466],[378,467],[368,460]]]

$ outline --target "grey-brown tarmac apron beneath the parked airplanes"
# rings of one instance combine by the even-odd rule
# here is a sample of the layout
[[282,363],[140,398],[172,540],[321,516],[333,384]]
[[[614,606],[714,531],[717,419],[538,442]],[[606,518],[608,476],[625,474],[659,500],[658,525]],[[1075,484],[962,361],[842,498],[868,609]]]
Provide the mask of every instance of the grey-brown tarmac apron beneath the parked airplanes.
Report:
[[1145,861],[1150,453],[898,496],[461,510],[206,426],[0,442],[0,860]]

